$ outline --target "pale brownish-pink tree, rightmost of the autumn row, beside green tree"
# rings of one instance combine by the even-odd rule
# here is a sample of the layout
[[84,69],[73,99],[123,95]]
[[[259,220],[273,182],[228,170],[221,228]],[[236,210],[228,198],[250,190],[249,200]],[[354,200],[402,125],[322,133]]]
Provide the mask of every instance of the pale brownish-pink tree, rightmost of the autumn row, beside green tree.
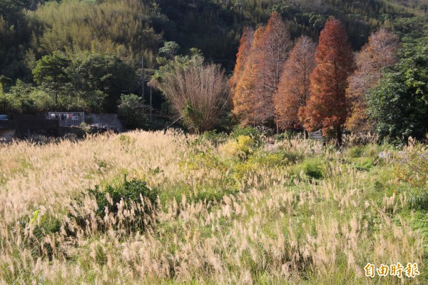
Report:
[[367,115],[365,95],[379,82],[382,69],[397,62],[398,36],[385,29],[372,34],[369,42],[362,47],[357,56],[357,70],[349,79],[347,100],[351,114],[346,127],[351,131],[368,132],[373,130]]

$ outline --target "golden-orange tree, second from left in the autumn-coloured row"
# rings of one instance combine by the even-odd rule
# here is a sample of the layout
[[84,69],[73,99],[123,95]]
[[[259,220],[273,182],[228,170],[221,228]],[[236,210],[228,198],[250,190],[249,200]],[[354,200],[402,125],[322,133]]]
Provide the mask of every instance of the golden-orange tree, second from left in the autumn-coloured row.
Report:
[[264,27],[259,27],[255,31],[253,44],[251,45],[247,60],[245,61],[242,75],[239,76],[239,80],[236,82],[236,87],[232,94],[233,114],[238,116],[243,125],[254,123],[255,80],[258,77],[259,66],[258,49],[260,44],[262,44],[264,33]]

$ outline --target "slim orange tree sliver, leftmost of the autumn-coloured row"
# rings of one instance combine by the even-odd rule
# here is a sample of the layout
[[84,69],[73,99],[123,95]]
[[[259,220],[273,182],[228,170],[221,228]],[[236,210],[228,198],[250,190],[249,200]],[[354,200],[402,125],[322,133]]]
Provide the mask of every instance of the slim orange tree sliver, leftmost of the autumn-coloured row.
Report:
[[244,28],[243,36],[240,39],[240,45],[238,48],[238,54],[236,54],[235,69],[233,69],[233,75],[230,77],[230,95],[232,99],[235,96],[236,86],[240,81],[241,76],[245,69],[248,56],[250,55],[251,47],[253,46],[254,30],[250,27]]

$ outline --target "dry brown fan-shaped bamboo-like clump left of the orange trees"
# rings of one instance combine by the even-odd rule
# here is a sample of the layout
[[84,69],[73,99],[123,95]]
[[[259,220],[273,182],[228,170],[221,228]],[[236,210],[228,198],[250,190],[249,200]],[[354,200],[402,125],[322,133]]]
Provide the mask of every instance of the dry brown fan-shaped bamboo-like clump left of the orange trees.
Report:
[[150,84],[165,94],[178,118],[195,132],[211,129],[227,103],[229,88],[223,69],[205,64],[198,54],[176,56]]

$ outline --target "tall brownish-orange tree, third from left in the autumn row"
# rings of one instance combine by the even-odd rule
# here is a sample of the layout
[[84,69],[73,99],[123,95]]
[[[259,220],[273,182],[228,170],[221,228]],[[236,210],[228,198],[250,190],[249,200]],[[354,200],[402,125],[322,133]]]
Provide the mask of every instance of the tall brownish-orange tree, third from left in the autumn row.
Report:
[[273,12],[267,22],[258,54],[258,76],[255,82],[254,115],[256,124],[274,119],[273,94],[277,91],[280,76],[292,44],[290,31],[280,14]]

